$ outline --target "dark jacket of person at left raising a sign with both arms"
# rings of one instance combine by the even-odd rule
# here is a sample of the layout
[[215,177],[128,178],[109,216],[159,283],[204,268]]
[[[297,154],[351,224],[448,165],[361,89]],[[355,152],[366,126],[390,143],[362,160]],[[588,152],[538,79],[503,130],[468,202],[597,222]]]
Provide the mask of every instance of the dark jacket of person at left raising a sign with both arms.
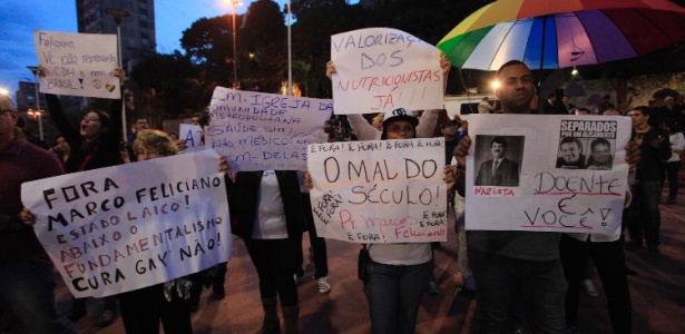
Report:
[[[75,127],[69,122],[56,95],[46,94],[46,100],[50,118],[55,121],[57,129],[65,137],[65,140],[69,143],[69,147],[71,147],[71,154],[65,166],[67,173],[110,167],[124,163],[119,154],[123,126],[121,99],[112,100],[111,110],[109,111],[110,121],[108,130],[92,143],[86,143],[86,139],[81,137],[79,127]],[[92,157],[84,169],[79,169],[79,166],[89,153],[92,153]]]

